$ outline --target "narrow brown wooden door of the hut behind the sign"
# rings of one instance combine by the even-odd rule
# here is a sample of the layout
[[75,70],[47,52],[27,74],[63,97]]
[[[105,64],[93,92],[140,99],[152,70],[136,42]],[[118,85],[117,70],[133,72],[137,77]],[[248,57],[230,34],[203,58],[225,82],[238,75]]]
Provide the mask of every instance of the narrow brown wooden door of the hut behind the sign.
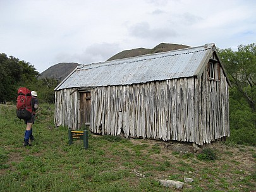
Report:
[[90,126],[90,91],[80,92],[80,128]]

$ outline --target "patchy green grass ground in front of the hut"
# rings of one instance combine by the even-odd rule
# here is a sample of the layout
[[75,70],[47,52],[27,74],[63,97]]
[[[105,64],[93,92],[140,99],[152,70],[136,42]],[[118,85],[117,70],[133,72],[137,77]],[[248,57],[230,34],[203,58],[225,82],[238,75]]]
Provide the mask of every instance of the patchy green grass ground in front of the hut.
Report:
[[[0,191],[256,191],[256,148],[210,145],[202,152],[166,150],[161,141],[89,133],[68,145],[68,128],[55,128],[54,105],[42,104],[32,147],[22,147],[25,124],[15,105],[0,105]],[[159,179],[183,181],[183,189]]]

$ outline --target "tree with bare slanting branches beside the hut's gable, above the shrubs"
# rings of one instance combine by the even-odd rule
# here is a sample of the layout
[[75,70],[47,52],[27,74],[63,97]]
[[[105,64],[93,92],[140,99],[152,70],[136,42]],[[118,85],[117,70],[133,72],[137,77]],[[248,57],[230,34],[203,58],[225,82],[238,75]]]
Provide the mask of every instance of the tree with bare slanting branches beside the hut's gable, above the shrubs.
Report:
[[256,44],[239,45],[238,51],[223,49],[219,54],[231,84],[256,112]]

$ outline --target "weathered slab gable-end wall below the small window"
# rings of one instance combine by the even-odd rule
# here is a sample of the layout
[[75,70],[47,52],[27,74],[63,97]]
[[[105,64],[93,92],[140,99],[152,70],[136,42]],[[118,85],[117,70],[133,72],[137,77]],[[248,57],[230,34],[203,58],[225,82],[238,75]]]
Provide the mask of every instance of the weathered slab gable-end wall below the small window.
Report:
[[198,82],[195,95],[195,135],[198,144],[230,136],[228,81],[220,70],[220,80],[208,80],[207,69]]

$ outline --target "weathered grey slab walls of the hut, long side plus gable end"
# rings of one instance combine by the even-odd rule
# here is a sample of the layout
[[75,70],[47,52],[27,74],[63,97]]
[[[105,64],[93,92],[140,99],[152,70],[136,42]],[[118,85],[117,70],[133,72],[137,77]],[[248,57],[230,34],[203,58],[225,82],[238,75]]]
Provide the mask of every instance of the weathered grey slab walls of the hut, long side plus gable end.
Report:
[[[102,135],[189,141],[203,145],[229,136],[228,82],[197,78],[91,90],[90,129]],[[56,126],[80,127],[79,92],[58,90]]]

